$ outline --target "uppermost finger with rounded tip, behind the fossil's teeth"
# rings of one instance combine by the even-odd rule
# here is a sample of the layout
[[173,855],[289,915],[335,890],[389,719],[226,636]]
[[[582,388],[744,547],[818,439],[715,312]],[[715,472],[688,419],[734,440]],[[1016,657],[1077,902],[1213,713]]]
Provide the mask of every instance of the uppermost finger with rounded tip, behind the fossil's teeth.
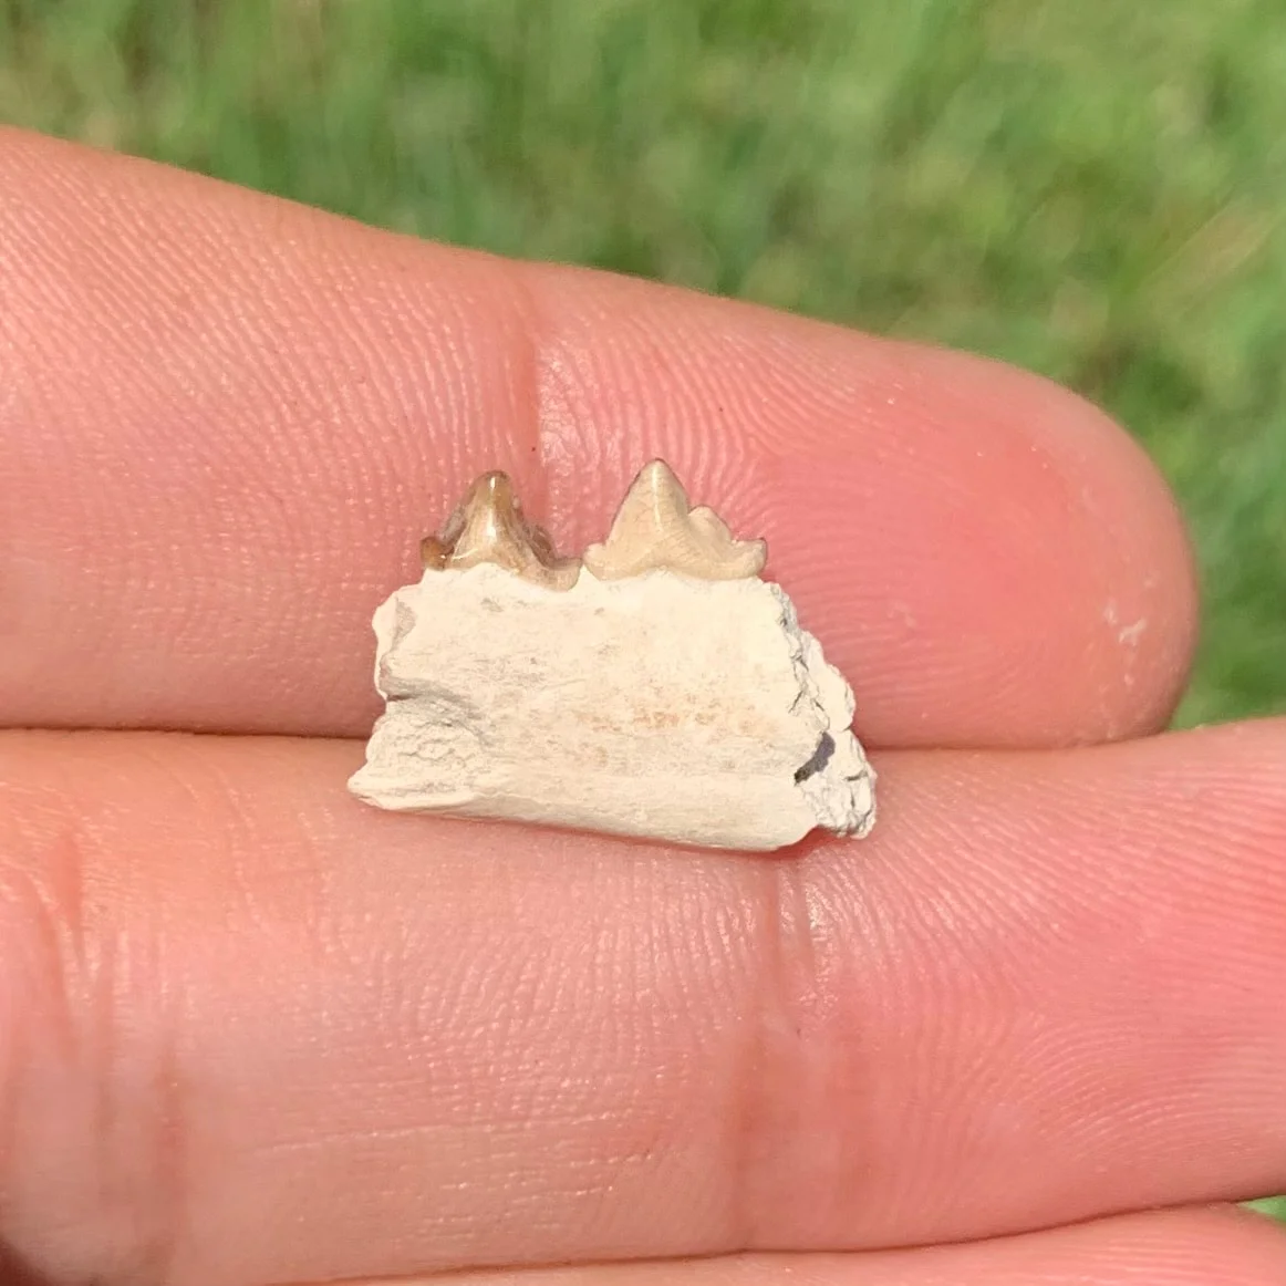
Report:
[[360,734],[476,473],[579,549],[655,455],[766,536],[872,743],[1124,736],[1182,684],[1169,496],[1019,372],[14,132],[0,298],[3,724]]

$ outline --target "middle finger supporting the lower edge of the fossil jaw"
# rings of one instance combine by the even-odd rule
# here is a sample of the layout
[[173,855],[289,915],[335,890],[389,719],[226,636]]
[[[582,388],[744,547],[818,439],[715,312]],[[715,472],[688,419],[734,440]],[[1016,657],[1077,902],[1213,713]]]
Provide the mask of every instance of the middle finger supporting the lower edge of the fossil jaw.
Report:
[[886,754],[869,841],[752,860],[379,814],[351,745],[10,733],[3,1231],[309,1280],[1281,1191],[1283,751]]

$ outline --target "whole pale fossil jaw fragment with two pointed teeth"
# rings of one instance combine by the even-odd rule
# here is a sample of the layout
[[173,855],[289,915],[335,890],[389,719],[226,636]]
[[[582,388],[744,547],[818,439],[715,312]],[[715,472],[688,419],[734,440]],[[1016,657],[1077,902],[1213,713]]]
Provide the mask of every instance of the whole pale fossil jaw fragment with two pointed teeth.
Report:
[[764,556],[689,509],[661,462],[584,566],[485,476],[426,541],[419,583],[376,612],[386,710],[350,788],[386,809],[705,847],[864,836],[874,772],[853,693],[759,577]]

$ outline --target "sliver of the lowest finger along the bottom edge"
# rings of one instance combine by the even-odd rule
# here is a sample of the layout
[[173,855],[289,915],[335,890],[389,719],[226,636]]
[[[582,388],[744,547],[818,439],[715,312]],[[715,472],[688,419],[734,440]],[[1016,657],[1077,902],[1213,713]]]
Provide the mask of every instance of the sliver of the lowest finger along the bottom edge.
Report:
[[1280,1286],[1286,1237],[1228,1210],[1132,1215],[864,1255],[738,1255],[435,1277],[435,1286]]

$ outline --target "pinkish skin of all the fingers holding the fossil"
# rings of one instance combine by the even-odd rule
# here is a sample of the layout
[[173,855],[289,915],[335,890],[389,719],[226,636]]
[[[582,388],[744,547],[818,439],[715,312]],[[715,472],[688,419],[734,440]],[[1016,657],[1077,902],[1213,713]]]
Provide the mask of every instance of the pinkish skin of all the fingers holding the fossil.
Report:
[[[1286,1188],[1286,725],[1161,733],[1191,563],[1102,414],[18,132],[0,301],[0,1277],[1283,1280],[1219,1206]],[[580,549],[657,455],[853,682],[873,836],[349,797],[468,482]]]

